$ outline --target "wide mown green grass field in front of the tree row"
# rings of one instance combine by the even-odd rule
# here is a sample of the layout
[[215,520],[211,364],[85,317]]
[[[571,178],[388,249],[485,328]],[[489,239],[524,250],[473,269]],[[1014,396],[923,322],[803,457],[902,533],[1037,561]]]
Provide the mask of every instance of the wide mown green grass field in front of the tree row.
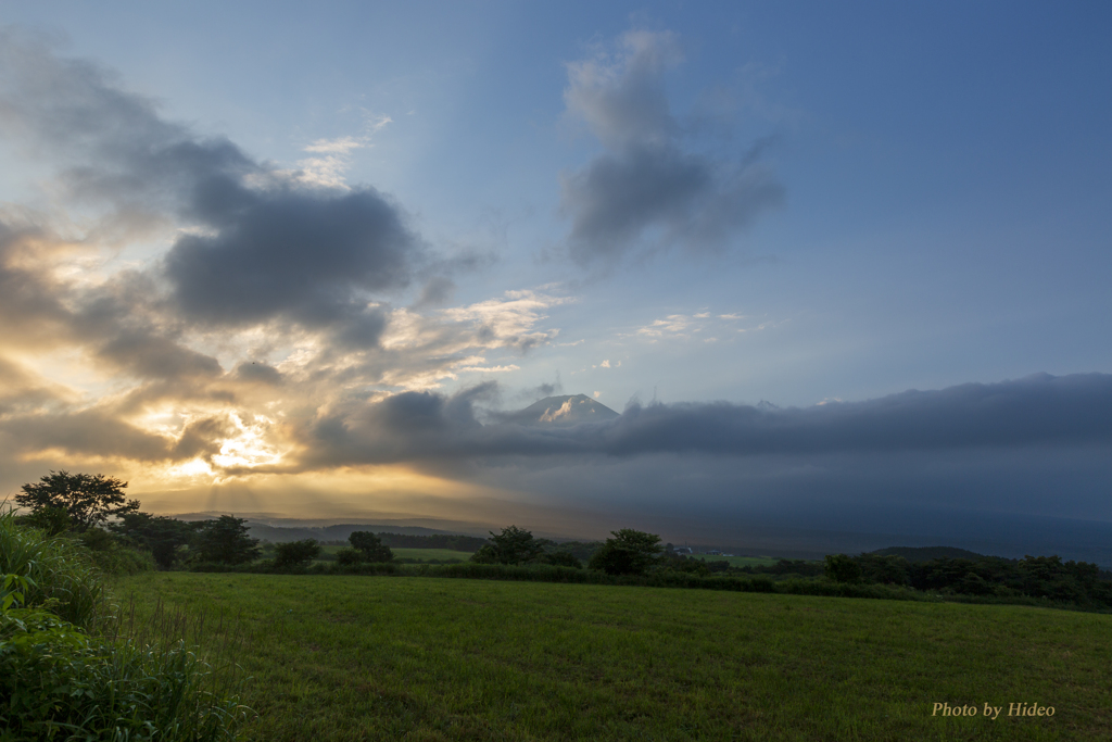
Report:
[[115,591],[140,614],[161,598],[231,622],[259,740],[1112,738],[1109,615],[431,577],[158,573]]

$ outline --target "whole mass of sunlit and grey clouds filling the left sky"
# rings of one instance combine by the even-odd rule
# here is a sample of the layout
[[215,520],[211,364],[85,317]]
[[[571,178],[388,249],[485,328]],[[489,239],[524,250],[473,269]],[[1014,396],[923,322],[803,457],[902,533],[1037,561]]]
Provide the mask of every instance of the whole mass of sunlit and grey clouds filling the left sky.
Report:
[[[348,157],[386,123],[310,154]],[[0,136],[46,199],[0,207],[6,472],[272,465],[329,410],[519,370],[509,356],[558,333],[546,309],[567,299],[542,293],[444,307],[485,258],[436,254],[389,196],[256,160],[14,32]]]

